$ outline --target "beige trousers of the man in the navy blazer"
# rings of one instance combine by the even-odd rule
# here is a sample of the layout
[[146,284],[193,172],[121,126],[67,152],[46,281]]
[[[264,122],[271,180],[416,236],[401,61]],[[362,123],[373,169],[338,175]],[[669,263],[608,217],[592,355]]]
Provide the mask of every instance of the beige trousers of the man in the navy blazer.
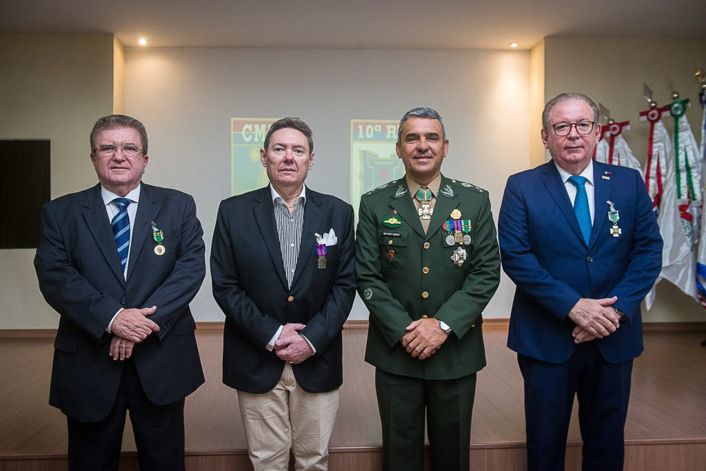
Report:
[[294,379],[292,365],[286,363],[272,391],[238,391],[238,402],[254,471],[287,471],[290,448],[295,470],[327,469],[338,389],[307,393]]

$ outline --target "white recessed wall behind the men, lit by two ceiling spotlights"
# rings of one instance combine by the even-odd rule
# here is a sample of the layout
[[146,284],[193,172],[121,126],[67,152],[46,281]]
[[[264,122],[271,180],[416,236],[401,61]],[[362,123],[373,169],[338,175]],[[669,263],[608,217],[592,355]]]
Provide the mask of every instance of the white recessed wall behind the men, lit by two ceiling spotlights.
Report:
[[[450,152],[442,171],[489,190],[529,166],[529,52],[355,49],[126,49],[126,113],[145,123],[145,182],[196,198],[207,250],[217,206],[230,195],[230,118],[299,116],[314,133],[307,184],[349,200],[349,120],[400,118],[431,106]],[[504,278],[486,317],[508,317]],[[196,319],[222,320],[210,277]],[[357,300],[350,319],[366,319]]]

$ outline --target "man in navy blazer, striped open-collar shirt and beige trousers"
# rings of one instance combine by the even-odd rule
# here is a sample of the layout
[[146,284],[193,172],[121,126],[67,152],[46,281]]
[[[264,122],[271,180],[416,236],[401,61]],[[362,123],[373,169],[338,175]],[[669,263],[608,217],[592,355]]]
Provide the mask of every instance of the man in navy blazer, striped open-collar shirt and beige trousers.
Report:
[[325,470],[356,287],[353,209],[304,185],[313,137],[298,118],[270,126],[261,163],[270,185],[223,200],[213,233],[223,382],[256,471],[287,470],[290,449],[297,470]]

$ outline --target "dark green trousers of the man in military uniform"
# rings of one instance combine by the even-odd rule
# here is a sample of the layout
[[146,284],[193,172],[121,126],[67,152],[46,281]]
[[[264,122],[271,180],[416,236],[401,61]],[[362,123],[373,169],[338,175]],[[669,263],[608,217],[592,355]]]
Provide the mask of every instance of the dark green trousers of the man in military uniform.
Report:
[[469,469],[475,374],[425,380],[376,369],[375,389],[383,428],[383,470],[422,470],[425,410],[431,469]]

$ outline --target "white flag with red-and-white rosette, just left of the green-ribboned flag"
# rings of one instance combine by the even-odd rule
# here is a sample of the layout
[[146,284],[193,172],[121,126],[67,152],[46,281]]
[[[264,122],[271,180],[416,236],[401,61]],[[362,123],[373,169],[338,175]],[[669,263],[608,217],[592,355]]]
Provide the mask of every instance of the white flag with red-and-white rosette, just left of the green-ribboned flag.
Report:
[[[655,192],[653,197],[653,201],[656,202],[654,208],[658,212],[659,232],[662,233],[664,239],[664,249],[662,250],[662,272],[654,282],[650,293],[647,293],[645,297],[648,310],[654,302],[654,290],[662,279],[671,281],[686,295],[694,299],[697,298],[693,245],[688,239],[678,207],[676,178],[678,172],[675,152],[666,127],[662,123],[661,115],[662,112],[656,108],[644,112],[644,116],[650,121],[650,142],[647,146],[647,171],[645,172],[649,177],[645,182],[648,191],[658,187],[658,181],[652,181],[652,175],[657,174],[657,171],[663,168],[660,161],[664,161],[664,169],[666,170],[666,173],[662,175],[661,194]],[[640,113],[640,116],[643,114]],[[650,188],[651,183],[652,188]]]

